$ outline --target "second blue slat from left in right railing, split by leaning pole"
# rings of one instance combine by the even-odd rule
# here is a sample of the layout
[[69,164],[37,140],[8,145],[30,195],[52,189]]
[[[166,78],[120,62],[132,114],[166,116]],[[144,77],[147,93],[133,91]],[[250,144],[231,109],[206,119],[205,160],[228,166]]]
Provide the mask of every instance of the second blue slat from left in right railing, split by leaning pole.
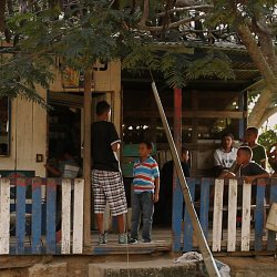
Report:
[[[188,185],[188,188],[189,188],[192,201],[194,202],[196,179],[195,178],[187,179],[187,185]],[[191,216],[189,216],[189,214],[187,212],[187,208],[185,208],[185,216],[184,216],[184,252],[191,252],[192,249],[193,249],[193,223],[192,223]]]

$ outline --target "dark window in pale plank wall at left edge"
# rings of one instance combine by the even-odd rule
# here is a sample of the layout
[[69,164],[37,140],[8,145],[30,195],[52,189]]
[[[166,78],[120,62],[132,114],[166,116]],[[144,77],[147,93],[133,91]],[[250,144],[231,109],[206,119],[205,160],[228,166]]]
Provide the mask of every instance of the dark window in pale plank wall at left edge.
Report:
[[10,155],[10,101],[0,98],[0,156]]

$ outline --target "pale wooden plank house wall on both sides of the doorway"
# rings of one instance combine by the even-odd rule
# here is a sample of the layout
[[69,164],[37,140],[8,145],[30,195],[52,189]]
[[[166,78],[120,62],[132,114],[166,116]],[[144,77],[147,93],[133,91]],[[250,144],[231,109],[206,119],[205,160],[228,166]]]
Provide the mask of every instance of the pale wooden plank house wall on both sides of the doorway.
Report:
[[[112,102],[113,122],[121,133],[121,63],[113,61],[107,64],[106,70],[93,71],[93,92],[112,94],[107,101]],[[55,80],[50,85],[51,92],[73,92],[76,89],[65,90],[62,88],[62,76],[55,70]],[[78,90],[80,92],[80,90]],[[38,89],[38,93],[44,99],[47,91]],[[10,156],[0,157],[0,171],[35,171],[37,176],[45,176],[47,157],[47,110],[37,103],[16,99],[11,104],[11,142]],[[93,116],[93,115],[92,115]],[[43,161],[37,162],[37,154],[42,154]]]

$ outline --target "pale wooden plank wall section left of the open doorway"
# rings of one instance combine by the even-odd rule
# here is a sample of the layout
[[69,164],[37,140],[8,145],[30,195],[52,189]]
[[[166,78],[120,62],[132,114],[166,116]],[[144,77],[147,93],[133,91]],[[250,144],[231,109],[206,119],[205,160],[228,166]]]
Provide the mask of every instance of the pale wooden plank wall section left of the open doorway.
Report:
[[[47,96],[45,90],[38,93]],[[37,176],[45,176],[47,111],[37,103],[16,99],[11,103],[10,156],[0,157],[0,170],[35,171]],[[37,162],[37,154],[43,161]]]

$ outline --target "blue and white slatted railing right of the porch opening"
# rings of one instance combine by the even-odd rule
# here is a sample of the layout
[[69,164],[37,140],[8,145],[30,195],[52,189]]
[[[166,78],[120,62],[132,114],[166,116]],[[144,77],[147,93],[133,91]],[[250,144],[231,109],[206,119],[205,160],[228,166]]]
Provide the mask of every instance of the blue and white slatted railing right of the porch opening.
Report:
[[[256,185],[243,178],[187,178],[187,183],[213,252],[276,250],[276,233],[265,229],[265,216],[277,202],[277,178],[258,179]],[[173,234],[174,252],[197,248],[179,186],[173,193]]]

